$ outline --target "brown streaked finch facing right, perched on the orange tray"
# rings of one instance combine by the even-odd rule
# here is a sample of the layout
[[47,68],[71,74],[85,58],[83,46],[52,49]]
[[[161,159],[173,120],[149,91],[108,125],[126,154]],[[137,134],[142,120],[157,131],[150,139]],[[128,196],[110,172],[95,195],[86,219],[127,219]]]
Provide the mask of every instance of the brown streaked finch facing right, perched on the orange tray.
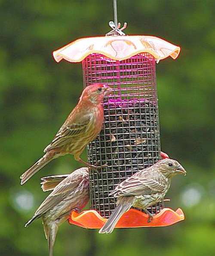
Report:
[[176,174],[186,175],[186,171],[176,160],[166,158],[135,173],[117,185],[110,193],[117,197],[117,207],[99,233],[110,234],[123,213],[132,206],[143,209],[149,216],[148,222],[151,222],[153,216],[147,207],[165,197],[171,178]]

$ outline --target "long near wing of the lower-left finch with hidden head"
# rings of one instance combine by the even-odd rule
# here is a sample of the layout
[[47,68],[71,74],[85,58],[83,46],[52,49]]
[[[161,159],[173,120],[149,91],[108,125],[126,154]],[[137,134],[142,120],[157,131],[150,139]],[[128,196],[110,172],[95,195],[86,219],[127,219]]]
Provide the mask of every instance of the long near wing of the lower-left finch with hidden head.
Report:
[[[86,169],[86,168],[85,168]],[[86,178],[89,175],[86,172]],[[83,182],[86,182],[86,179],[83,177],[83,173],[71,173],[67,178],[65,178],[61,183],[59,183],[51,194],[43,201],[40,207],[35,212],[34,216],[42,215],[48,210],[51,210],[55,205],[59,204],[61,200],[71,194],[75,194],[76,189],[83,185]]]

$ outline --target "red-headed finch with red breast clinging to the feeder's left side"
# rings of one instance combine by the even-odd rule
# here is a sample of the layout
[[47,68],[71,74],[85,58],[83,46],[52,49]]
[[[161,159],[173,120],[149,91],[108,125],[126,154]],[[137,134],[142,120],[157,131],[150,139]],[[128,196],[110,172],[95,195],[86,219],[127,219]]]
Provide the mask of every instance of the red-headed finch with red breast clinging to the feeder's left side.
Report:
[[80,154],[101,131],[104,119],[102,103],[104,96],[110,92],[110,89],[107,85],[96,83],[83,90],[77,106],[61,126],[52,142],[45,148],[43,157],[20,177],[21,185],[47,163],[65,154],[73,154],[75,160],[89,166],[80,158]]

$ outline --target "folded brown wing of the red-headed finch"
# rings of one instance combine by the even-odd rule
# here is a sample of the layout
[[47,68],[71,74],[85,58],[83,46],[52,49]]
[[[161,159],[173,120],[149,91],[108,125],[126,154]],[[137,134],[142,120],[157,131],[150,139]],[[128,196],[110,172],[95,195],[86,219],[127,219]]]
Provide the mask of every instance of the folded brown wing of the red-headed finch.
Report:
[[92,115],[78,115],[76,118],[71,117],[71,120],[69,120],[69,118],[66,120],[52,142],[44,149],[45,153],[51,149],[60,148],[66,145],[68,139],[75,139],[81,134],[85,134],[89,128],[90,122],[92,121]]

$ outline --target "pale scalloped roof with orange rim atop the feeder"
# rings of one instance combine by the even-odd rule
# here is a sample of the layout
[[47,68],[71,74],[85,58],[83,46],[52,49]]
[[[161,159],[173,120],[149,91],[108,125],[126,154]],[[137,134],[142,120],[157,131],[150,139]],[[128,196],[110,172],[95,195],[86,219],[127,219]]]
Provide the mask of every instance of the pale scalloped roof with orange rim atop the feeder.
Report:
[[180,47],[153,36],[109,36],[77,39],[53,52],[56,62],[81,62],[92,53],[100,53],[113,60],[124,60],[138,53],[148,52],[157,61],[176,59]]

